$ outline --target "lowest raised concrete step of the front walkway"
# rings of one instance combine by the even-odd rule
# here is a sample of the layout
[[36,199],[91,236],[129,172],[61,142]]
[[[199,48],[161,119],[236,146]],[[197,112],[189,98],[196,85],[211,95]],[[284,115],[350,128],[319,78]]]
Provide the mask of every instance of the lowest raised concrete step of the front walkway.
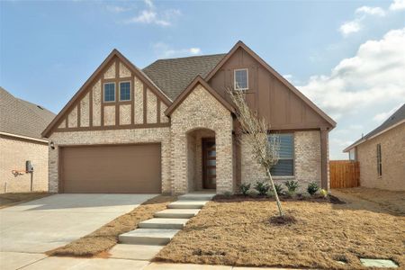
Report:
[[121,234],[121,244],[166,245],[180,229],[134,229]]

